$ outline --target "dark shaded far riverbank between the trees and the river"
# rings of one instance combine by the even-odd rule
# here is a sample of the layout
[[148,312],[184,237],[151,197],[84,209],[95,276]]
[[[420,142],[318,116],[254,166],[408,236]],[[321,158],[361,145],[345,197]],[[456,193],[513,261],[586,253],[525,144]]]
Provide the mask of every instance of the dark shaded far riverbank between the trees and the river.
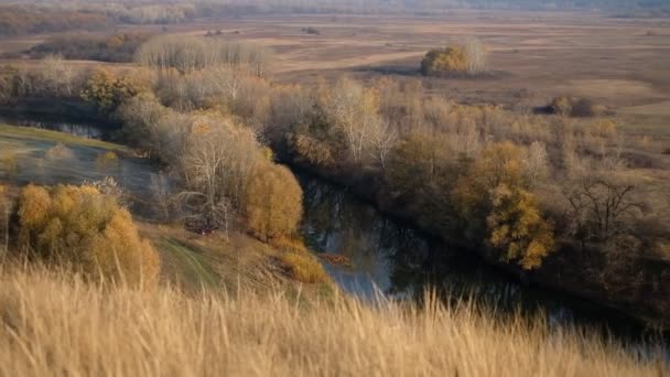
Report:
[[[321,170],[314,169],[309,164],[296,162],[287,159],[298,171],[312,174],[323,179],[332,184],[346,187],[348,192],[356,197],[374,205],[385,215],[396,219],[411,224],[429,235],[442,239],[446,245],[453,246],[454,249],[461,250],[463,254],[472,256],[476,254],[484,262],[498,268],[506,272],[517,281],[523,284],[538,286],[551,291],[565,293],[575,298],[588,300],[624,313],[627,316],[636,319],[646,326],[668,331],[670,322],[667,316],[670,310],[670,292],[668,295],[650,295],[649,290],[646,290],[646,284],[650,284],[649,280],[633,280],[648,279],[647,277],[630,277],[623,274],[622,279],[631,279],[633,281],[623,280],[619,287],[607,287],[597,278],[598,276],[590,276],[586,270],[575,270],[575,261],[584,258],[584,255],[574,247],[568,244],[560,244],[556,251],[550,255],[541,268],[533,271],[523,271],[519,267],[509,263],[501,263],[499,260],[490,258],[482,250],[478,250],[468,245],[465,238],[454,237],[453,234],[444,233],[443,228],[435,226],[433,223],[424,223],[421,220],[422,214],[412,212],[412,203],[404,205],[395,202],[390,193],[383,191],[383,185],[379,184],[378,180],[372,174],[357,175],[352,170]],[[345,173],[354,172],[354,173]],[[435,208],[436,209],[436,208]],[[662,277],[666,271],[670,271],[670,263],[663,260],[642,260],[636,263],[645,263],[642,271],[647,271],[655,277]],[[661,288],[666,289],[666,288]],[[663,291],[661,291],[663,292]]]

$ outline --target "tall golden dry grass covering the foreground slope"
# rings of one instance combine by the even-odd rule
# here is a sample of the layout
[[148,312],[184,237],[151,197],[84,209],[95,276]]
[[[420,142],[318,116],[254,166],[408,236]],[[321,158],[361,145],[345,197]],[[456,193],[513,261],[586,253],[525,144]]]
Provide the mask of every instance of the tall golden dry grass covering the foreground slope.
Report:
[[0,269],[0,376],[659,376],[573,331],[472,308],[187,297]]

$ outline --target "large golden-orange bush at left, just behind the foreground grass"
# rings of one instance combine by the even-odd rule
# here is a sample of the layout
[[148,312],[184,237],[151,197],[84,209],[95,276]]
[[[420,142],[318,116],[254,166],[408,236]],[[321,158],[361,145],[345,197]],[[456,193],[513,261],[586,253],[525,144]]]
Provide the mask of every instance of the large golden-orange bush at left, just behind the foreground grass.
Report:
[[28,185],[19,198],[19,246],[94,280],[151,284],[159,256],[130,213],[93,186]]

